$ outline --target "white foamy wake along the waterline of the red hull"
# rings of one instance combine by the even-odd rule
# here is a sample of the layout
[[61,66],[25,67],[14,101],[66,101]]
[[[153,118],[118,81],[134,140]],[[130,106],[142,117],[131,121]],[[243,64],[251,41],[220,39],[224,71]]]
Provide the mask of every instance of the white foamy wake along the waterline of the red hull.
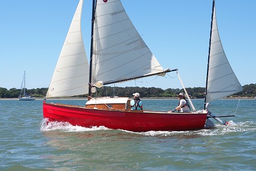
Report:
[[[119,130],[126,132],[127,134],[137,134],[143,136],[162,136],[162,137],[172,137],[172,136],[183,136],[184,138],[194,138],[200,136],[214,136],[214,135],[227,135],[232,132],[250,132],[256,130],[255,122],[239,122],[234,123],[232,120],[229,121],[229,125],[216,124],[210,129],[203,129],[197,131],[147,131],[147,132],[133,132],[126,130]],[[41,123],[41,131],[55,131],[59,130],[61,132],[86,132],[86,131],[117,131],[112,130],[104,126],[95,126],[91,128],[72,126],[68,122],[49,122],[48,119],[44,118]]]

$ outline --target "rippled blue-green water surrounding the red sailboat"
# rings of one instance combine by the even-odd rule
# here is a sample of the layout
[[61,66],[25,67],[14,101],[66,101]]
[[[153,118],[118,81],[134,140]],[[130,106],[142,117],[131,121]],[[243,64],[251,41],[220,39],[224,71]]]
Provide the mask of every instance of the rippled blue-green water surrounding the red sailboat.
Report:
[[[143,103],[144,110],[168,111],[178,101]],[[193,103],[203,106],[203,100]],[[256,170],[256,101],[218,100],[210,111],[236,117],[226,118],[231,126],[213,120],[210,130],[129,132],[46,125],[42,100],[0,100],[0,170]]]

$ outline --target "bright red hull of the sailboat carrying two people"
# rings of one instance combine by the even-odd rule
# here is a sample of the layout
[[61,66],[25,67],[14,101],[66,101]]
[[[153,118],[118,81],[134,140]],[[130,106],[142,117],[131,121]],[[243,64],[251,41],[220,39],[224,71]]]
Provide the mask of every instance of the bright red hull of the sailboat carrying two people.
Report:
[[105,126],[139,132],[200,130],[207,120],[206,113],[103,110],[46,102],[43,102],[43,116],[49,121],[69,122],[73,126]]

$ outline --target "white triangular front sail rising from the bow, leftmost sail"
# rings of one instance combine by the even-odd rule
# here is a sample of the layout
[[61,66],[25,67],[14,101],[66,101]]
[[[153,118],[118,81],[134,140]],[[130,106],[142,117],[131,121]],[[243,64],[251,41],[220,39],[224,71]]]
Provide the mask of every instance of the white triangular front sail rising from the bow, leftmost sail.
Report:
[[48,98],[88,93],[89,64],[81,35],[82,2],[79,2],[69,27],[49,85]]

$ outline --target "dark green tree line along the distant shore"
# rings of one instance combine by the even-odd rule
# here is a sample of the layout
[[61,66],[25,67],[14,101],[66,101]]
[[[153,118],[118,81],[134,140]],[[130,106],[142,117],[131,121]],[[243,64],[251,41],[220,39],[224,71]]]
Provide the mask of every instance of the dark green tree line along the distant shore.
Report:
[[[48,88],[37,88],[37,89],[26,89],[26,94],[32,97],[43,98],[46,96]],[[191,98],[204,98],[205,97],[205,87],[188,87],[186,88],[189,96]],[[0,98],[18,98],[21,89],[12,88],[7,90],[6,88],[0,87]],[[133,97],[133,93],[138,92],[141,94],[142,98],[174,98],[182,92],[183,89],[166,89],[156,87],[109,87],[104,86],[102,88],[97,88],[97,96],[101,97]],[[88,94],[78,95],[76,97],[87,97]],[[250,97],[254,98],[256,96],[256,84],[244,85],[243,90],[239,93],[233,94],[232,97]]]

